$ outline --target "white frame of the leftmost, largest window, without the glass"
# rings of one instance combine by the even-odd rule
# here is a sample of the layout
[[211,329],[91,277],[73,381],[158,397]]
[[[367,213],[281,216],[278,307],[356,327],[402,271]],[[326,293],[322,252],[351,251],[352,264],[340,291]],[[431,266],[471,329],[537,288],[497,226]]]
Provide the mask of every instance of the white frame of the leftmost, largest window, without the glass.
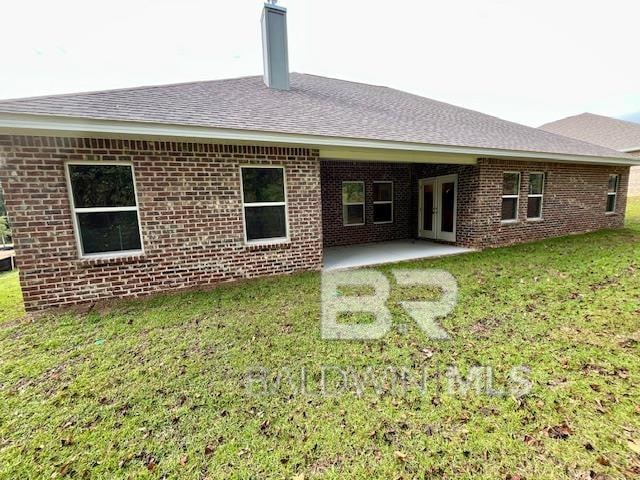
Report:
[[[118,165],[126,166],[131,169],[131,181],[133,182],[133,195],[136,205],[133,207],[90,207],[76,208],[73,198],[73,185],[71,184],[71,165]],[[73,219],[73,232],[76,237],[76,246],[78,248],[78,258],[80,259],[101,259],[101,258],[120,258],[132,257],[136,255],[144,255],[144,239],[142,237],[142,221],[140,220],[140,203],[138,202],[138,189],[136,186],[136,172],[133,168],[133,162],[126,161],[101,161],[101,160],[69,160],[64,163],[64,172],[67,180],[67,192],[69,194],[69,204],[71,206],[71,218]],[[82,246],[82,236],[80,235],[80,225],[78,224],[78,213],[103,213],[103,212],[136,212],[138,217],[138,235],[140,235],[140,248],[135,250],[116,250],[114,252],[96,252],[84,253]]]

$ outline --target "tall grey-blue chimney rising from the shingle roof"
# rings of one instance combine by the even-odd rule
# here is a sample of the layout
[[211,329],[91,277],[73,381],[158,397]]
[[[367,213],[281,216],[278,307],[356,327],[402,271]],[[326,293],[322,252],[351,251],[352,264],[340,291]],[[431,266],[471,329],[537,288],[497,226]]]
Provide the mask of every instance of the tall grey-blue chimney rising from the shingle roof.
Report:
[[287,51],[287,9],[265,3],[262,10],[262,57],[264,83],[269,88],[289,90],[289,55]]

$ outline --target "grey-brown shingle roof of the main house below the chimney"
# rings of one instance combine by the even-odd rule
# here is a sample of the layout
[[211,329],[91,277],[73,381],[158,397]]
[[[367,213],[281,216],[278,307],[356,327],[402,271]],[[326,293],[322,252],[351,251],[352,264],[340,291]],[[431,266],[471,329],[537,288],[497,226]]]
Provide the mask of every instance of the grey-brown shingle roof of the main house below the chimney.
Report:
[[0,101],[25,113],[624,158],[601,146],[387,87],[291,74]]

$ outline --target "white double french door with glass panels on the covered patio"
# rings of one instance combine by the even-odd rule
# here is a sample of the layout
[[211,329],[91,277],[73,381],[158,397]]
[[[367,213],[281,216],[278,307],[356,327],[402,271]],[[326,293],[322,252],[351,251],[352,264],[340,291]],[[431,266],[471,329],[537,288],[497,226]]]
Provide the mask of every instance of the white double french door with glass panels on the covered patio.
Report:
[[458,176],[425,178],[418,187],[418,236],[455,242]]

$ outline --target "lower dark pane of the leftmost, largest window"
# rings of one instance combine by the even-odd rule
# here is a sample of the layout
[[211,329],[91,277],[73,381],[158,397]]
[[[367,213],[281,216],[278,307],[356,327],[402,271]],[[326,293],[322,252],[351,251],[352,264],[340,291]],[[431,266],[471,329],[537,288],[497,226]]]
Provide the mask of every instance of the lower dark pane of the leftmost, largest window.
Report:
[[140,250],[137,212],[78,213],[84,253]]

